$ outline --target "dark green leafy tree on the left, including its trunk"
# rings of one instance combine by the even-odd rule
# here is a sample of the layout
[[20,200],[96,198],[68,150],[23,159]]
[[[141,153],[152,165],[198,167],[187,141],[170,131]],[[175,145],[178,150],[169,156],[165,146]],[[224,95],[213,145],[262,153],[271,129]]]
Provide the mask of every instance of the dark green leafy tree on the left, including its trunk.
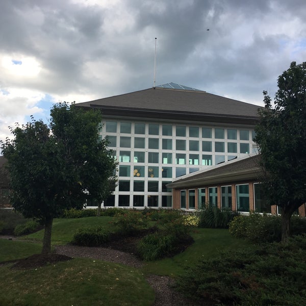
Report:
[[51,250],[52,223],[64,209],[102,201],[116,161],[99,139],[101,114],[74,104],[55,105],[49,126],[41,120],[11,128],[2,150],[11,181],[11,203],[44,225],[42,253]]

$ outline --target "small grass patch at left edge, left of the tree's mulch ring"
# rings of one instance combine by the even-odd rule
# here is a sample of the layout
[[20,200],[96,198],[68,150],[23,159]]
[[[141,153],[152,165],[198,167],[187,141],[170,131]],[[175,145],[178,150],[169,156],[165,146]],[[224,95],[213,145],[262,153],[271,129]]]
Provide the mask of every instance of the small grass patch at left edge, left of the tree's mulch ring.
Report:
[[41,252],[37,243],[0,239],[0,262],[29,257]]

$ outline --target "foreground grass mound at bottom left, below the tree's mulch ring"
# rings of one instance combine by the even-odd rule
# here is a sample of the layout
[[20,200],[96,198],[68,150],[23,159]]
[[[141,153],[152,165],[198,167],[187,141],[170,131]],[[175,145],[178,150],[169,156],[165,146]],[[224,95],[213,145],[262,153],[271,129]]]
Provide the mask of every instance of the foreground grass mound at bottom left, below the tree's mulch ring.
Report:
[[154,291],[137,269],[73,259],[37,269],[0,266],[0,305],[152,305]]

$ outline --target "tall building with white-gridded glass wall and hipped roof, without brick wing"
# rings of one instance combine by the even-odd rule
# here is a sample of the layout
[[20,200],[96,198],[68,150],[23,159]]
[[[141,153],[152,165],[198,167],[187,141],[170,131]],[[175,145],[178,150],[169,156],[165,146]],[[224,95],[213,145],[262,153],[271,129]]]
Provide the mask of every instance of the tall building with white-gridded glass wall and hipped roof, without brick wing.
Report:
[[177,177],[256,152],[259,107],[194,88],[169,83],[77,106],[103,113],[100,135],[119,161],[105,206],[176,207],[167,185]]

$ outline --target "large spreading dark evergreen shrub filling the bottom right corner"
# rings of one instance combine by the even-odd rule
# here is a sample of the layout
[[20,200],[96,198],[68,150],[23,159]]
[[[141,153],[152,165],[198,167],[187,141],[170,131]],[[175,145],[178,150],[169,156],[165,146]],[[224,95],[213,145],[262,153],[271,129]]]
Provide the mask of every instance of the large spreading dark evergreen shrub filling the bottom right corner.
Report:
[[179,277],[176,288],[197,304],[299,305],[306,290],[306,236],[221,253]]

